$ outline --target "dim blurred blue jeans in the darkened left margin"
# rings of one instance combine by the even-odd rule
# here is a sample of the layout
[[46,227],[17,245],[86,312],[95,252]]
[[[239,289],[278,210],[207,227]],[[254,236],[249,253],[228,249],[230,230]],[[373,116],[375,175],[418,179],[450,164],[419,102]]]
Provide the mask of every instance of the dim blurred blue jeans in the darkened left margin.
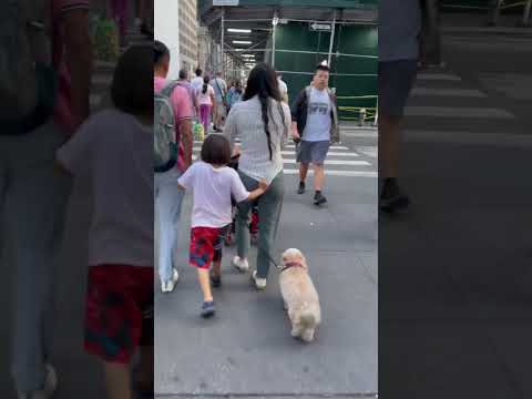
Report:
[[71,190],[71,177],[55,168],[64,141],[53,123],[0,136],[0,269],[13,276],[11,374],[21,392],[42,387],[49,361],[54,274]]

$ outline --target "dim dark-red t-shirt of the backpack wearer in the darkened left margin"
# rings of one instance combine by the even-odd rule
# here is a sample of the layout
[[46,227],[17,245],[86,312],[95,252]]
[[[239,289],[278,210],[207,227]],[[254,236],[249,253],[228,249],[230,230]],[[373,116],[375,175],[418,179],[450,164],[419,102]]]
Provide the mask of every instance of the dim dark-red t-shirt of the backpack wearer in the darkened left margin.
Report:
[[[65,12],[85,9],[89,10],[89,0],[53,0],[52,1],[52,48],[53,66],[59,73],[59,98],[54,112],[54,121],[68,134],[74,132],[72,112],[72,89],[70,73],[64,60],[64,32],[61,29],[61,19]],[[86,27],[89,30],[89,27]]]

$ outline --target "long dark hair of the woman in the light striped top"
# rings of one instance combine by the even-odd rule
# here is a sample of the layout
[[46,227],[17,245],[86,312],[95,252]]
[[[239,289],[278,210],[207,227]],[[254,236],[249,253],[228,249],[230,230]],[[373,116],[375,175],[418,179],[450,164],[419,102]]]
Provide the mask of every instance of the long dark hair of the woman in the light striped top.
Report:
[[[256,65],[249,73],[247,79],[247,86],[244,93],[243,100],[247,101],[253,99],[255,95],[258,95],[258,101],[260,101],[262,112],[263,112],[263,122],[264,122],[264,132],[268,137],[268,150],[269,150],[269,160],[273,158],[272,151],[272,135],[269,132],[269,99],[277,101],[278,111],[280,117],[283,119],[283,126],[285,125],[285,114],[282,109],[282,96],[279,91],[279,83],[277,82],[277,75],[275,70],[266,63],[259,63]],[[275,120],[274,120],[275,123]],[[276,125],[277,127],[277,125]]]

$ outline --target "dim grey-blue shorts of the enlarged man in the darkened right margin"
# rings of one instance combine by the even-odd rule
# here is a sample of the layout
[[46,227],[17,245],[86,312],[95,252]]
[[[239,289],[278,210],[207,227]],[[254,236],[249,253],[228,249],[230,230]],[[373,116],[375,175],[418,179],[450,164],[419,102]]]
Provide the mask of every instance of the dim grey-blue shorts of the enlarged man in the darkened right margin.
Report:
[[379,62],[379,115],[405,115],[417,73],[417,60]]

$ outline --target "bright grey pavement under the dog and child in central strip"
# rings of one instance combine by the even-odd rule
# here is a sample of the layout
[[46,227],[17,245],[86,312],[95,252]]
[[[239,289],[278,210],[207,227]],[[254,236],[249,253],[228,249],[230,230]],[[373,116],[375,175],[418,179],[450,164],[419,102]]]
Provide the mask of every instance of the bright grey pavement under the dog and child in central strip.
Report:
[[[362,155],[359,155],[360,157]],[[367,158],[367,157],[365,157]],[[368,158],[369,160],[369,158]],[[376,170],[372,162],[371,170]],[[218,313],[198,316],[196,272],[187,266],[191,194],[185,197],[177,250],[181,280],[155,294],[155,391],[161,398],[375,397],[377,391],[377,178],[327,177],[329,205],[297,195],[285,176],[285,202],[274,257],[300,248],[320,295],[323,325],[310,345],[295,341],[282,306],[278,273],[257,293],[249,274],[229,263],[214,291]],[[255,264],[255,248],[249,257]]]

